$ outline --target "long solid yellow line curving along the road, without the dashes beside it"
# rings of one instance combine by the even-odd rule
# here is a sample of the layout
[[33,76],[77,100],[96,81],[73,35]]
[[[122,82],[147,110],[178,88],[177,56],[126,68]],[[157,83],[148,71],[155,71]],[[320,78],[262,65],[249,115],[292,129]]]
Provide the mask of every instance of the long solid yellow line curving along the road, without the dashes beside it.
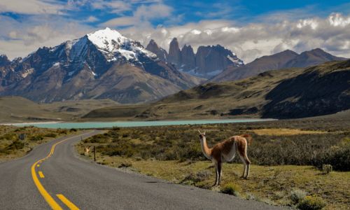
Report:
[[[93,132],[93,131],[92,131]],[[86,134],[90,134],[92,132],[88,132]],[[81,137],[85,134],[80,134],[79,136],[76,136],[76,137]],[[36,186],[36,188],[38,188],[39,190],[39,193],[41,193],[41,195],[43,196],[43,198],[45,199],[46,202],[48,202],[48,204],[50,205],[51,209],[57,209],[57,210],[61,210],[62,208],[59,206],[59,204],[57,204],[57,202],[52,198],[52,196],[48,193],[48,191],[45,190],[45,188],[43,187],[43,185],[41,184],[41,182],[39,181],[38,179],[38,176],[36,176],[36,172],[35,172],[35,166],[38,164],[38,162],[40,161],[43,161],[45,159],[48,159],[52,154],[53,152],[55,151],[55,146],[57,144],[61,144],[62,142],[64,141],[67,141],[69,139],[73,139],[73,138],[76,138],[76,137],[70,137],[68,139],[64,139],[62,141],[59,141],[57,142],[56,144],[52,145],[51,147],[51,151],[50,153],[48,154],[48,156],[46,156],[45,158],[42,158],[41,160],[38,160],[36,162],[34,162],[33,165],[31,165],[31,177],[33,178],[33,181],[34,181],[34,184]],[[40,175],[40,174],[39,174]]]

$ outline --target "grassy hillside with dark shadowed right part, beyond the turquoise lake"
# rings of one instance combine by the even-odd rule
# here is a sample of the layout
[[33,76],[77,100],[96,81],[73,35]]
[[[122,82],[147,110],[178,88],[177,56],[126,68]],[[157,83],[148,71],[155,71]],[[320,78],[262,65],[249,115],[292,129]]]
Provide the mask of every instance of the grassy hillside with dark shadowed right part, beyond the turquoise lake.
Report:
[[[144,105],[138,119],[305,118],[350,109],[350,59],[207,83]],[[117,107],[116,107],[117,109]],[[109,108],[112,111],[113,108]],[[94,111],[94,116],[104,109]],[[111,113],[113,115],[113,113]],[[113,117],[118,118],[117,115]]]

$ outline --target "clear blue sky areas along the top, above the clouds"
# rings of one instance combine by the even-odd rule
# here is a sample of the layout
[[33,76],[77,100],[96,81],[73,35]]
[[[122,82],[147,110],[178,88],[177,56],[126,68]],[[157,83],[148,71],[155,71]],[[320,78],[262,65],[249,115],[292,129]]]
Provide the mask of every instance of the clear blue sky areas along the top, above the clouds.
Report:
[[[8,1],[8,0],[3,0]],[[40,1],[40,0],[38,0]],[[18,1],[20,4],[20,1]],[[149,22],[156,27],[158,25],[172,26],[184,25],[188,22],[199,22],[201,20],[234,20],[244,25],[248,22],[260,22],[264,15],[274,13],[285,13],[290,19],[308,18],[308,17],[326,17],[332,12],[349,13],[349,1],[86,1],[86,0],[42,0],[42,2],[57,6],[55,13],[61,13],[59,16],[67,20],[85,21],[90,17],[94,17],[94,21],[85,22],[86,25],[99,27],[104,22],[113,18],[121,18],[132,16],[140,6],[151,6],[153,4],[162,3],[168,6],[171,15],[176,18],[176,22],[172,18],[162,17],[151,18]],[[120,3],[120,6],[109,6],[109,3]],[[130,3],[134,2],[134,3]],[[6,4],[6,3],[3,3]],[[116,8],[118,8],[116,10]],[[45,12],[43,12],[45,13]],[[52,13],[51,15],[56,15]],[[27,19],[33,14],[16,11],[14,9],[6,10],[6,5],[0,4],[0,15],[5,15],[18,21]],[[117,28],[124,28],[120,26]]]

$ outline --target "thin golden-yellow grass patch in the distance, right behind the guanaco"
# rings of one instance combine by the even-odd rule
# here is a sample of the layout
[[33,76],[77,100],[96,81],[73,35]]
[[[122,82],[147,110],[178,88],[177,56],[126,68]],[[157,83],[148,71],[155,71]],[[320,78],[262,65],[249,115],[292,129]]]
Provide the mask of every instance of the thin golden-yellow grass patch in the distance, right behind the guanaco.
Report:
[[255,134],[260,136],[292,136],[298,134],[324,134],[323,131],[314,131],[314,130],[299,130],[299,129],[288,129],[288,128],[264,128],[251,130]]

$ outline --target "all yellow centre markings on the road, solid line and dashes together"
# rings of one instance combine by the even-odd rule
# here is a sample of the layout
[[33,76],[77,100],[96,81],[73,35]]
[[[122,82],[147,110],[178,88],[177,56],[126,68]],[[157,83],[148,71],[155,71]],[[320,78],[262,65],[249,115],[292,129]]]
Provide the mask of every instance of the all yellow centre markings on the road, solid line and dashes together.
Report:
[[[93,132],[93,131],[92,131]],[[86,134],[90,134],[92,132],[88,132]],[[81,137],[84,134],[80,134],[79,136],[76,137]],[[69,139],[73,139],[76,137],[70,137],[68,139],[64,139],[62,141],[57,142],[56,144],[52,145],[51,147],[51,151],[50,153],[45,157],[42,158],[41,160],[38,160],[36,162],[34,162],[33,165],[31,165],[31,177],[33,178],[34,184],[36,185],[36,188],[38,188],[39,192],[41,193],[41,195],[43,196],[43,198],[45,199],[46,202],[48,202],[48,204],[50,205],[50,207],[52,209],[57,209],[57,210],[61,210],[62,207],[59,206],[59,204],[57,204],[57,202],[52,198],[52,196],[48,193],[48,191],[45,190],[45,188],[43,187],[43,185],[41,184],[41,182],[38,179],[38,176],[36,175],[35,172],[35,167],[39,167],[40,165],[38,165],[39,162],[43,162],[44,160],[48,159],[51,157],[51,155],[55,152],[55,147],[57,146],[57,144],[61,144],[64,141],[67,141]],[[42,174],[42,172],[41,172]],[[57,194],[57,197],[59,198],[59,200],[61,200],[64,204],[66,204],[67,207],[69,207],[69,209],[78,209],[78,207],[76,207],[76,205],[74,205],[72,202],[70,202],[68,199],[66,199],[66,197],[64,197],[64,195],[62,194]]]

